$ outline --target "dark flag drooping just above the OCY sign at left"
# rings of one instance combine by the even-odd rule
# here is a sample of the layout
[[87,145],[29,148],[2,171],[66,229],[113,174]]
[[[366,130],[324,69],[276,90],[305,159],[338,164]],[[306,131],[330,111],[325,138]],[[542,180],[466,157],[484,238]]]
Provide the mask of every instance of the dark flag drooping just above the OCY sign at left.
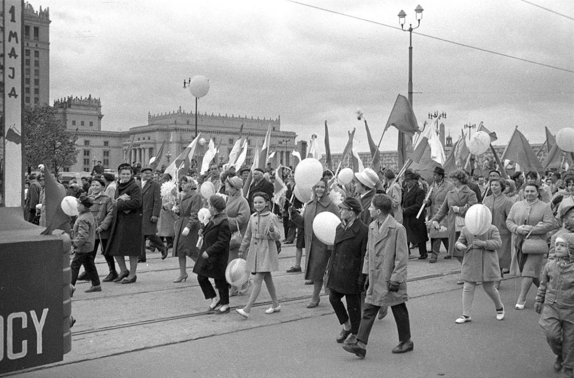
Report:
[[64,186],[58,184],[50,173],[49,165],[44,164],[44,202],[46,215],[46,229],[41,235],[52,235],[55,229],[70,232],[69,217],[62,210],[61,202],[66,193]]

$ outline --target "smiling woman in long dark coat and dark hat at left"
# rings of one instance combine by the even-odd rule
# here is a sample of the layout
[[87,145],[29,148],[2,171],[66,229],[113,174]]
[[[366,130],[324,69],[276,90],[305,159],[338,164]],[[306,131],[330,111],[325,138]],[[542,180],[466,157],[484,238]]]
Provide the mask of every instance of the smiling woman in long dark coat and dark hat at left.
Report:
[[[118,167],[119,184],[114,195],[114,217],[104,255],[114,256],[121,273],[114,282],[134,283],[142,243],[142,192],[129,164]],[[127,270],[123,256],[130,256]]]

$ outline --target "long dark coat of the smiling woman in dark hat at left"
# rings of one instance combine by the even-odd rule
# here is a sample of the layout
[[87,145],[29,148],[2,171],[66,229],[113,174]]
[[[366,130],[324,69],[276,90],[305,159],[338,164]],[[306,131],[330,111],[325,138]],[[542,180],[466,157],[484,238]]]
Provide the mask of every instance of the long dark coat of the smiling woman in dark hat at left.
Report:
[[[128,201],[118,200],[122,194],[130,196]],[[139,256],[142,244],[142,192],[134,178],[119,183],[115,189],[114,217],[110,237],[104,255]]]

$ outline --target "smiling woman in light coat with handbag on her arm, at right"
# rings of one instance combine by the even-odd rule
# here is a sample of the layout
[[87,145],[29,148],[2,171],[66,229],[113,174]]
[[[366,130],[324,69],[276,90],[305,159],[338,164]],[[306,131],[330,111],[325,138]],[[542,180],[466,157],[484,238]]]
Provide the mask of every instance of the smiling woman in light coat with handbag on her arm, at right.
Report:
[[[522,235],[529,235],[531,240],[544,240],[545,233],[554,228],[554,217],[550,205],[540,201],[538,185],[526,184],[524,186],[525,199],[512,205],[506,227],[513,233],[513,254],[510,262],[510,274],[522,277],[521,290],[514,306],[517,310],[524,309],[526,294],[530,290],[533,280],[538,277],[544,267],[548,245],[543,244],[536,253],[518,254],[518,247],[522,243]],[[528,239],[527,239],[528,240]],[[522,245],[523,248],[523,245]]]

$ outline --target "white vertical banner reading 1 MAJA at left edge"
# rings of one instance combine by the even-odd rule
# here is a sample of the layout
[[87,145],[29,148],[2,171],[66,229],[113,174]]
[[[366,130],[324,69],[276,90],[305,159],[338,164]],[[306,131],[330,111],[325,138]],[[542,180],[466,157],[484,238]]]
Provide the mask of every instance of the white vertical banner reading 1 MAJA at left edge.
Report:
[[22,35],[23,3],[3,0],[4,180],[5,206],[22,206]]

